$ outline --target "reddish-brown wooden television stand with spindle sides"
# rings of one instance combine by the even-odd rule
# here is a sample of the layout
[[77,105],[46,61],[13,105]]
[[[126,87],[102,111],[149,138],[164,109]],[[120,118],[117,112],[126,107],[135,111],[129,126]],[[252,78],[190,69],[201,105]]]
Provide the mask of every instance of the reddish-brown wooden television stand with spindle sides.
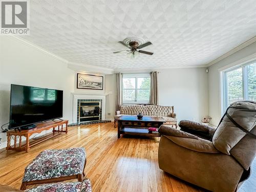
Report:
[[[29,152],[31,146],[34,146],[38,143],[44,142],[52,137],[57,135],[68,133],[68,120],[56,120],[56,121],[45,121],[38,123],[36,127],[28,130],[9,130],[7,133],[7,147],[6,150],[14,151],[25,151]],[[66,125],[65,127],[63,125]],[[57,130],[55,128],[58,127]],[[30,142],[29,137],[35,133],[41,133],[45,130],[52,130],[52,133],[47,134],[45,137],[38,138]],[[11,146],[11,136],[14,136],[14,145]],[[22,136],[26,137],[26,142],[22,142]],[[17,139],[19,142],[17,143]]]

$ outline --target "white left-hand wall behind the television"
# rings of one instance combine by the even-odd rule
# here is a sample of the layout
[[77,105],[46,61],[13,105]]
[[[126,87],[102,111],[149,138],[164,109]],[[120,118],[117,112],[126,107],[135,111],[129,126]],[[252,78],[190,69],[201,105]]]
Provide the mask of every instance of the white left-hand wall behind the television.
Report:
[[[63,90],[63,118],[71,120],[74,74],[66,62],[13,37],[0,36],[0,125],[9,122],[11,83]],[[0,138],[6,140],[6,135]]]

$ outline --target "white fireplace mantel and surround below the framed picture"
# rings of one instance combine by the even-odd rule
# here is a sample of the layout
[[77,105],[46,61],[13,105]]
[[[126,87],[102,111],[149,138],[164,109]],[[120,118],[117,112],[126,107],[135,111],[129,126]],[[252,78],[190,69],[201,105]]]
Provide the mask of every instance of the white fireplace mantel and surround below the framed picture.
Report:
[[72,121],[73,123],[77,122],[77,102],[78,99],[102,99],[102,108],[101,108],[101,117],[102,120],[105,120],[105,106],[106,106],[106,96],[109,94],[105,93],[71,93],[73,98],[73,107],[72,107]]

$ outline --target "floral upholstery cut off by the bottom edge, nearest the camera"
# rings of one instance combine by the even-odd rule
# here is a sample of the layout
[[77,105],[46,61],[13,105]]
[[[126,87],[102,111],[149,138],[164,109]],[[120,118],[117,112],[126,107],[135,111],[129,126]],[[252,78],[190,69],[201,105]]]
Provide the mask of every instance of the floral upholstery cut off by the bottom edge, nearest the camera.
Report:
[[26,192],[92,192],[92,185],[86,178],[82,182],[44,184],[27,189]]

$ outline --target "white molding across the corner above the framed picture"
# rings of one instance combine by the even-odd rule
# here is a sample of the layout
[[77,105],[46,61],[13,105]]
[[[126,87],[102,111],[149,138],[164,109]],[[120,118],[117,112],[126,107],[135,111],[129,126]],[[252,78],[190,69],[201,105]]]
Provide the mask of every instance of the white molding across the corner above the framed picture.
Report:
[[104,74],[104,75],[114,74],[113,69],[103,68],[103,67],[93,66],[88,64],[74,63],[74,62],[69,62],[68,68],[77,72],[88,72],[88,73]]

